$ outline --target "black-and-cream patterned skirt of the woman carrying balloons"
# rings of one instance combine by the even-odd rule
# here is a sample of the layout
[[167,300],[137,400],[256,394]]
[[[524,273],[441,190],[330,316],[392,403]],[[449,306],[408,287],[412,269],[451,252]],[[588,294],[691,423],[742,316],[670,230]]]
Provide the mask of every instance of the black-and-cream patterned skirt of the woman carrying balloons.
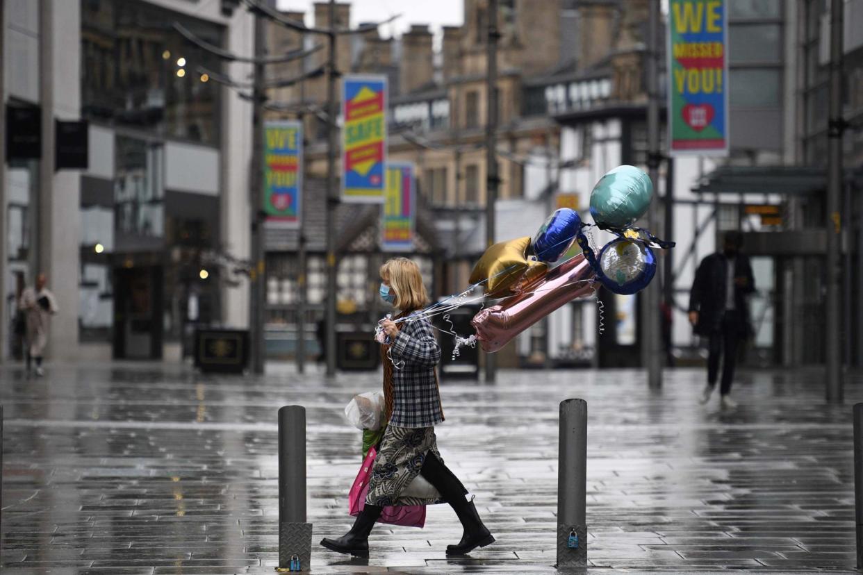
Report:
[[366,504],[379,505],[432,505],[444,503],[439,498],[412,497],[402,491],[419,475],[425,455],[431,451],[442,462],[438,452],[438,439],[434,428],[399,428],[387,426],[381,447],[375,457],[375,467],[369,479]]

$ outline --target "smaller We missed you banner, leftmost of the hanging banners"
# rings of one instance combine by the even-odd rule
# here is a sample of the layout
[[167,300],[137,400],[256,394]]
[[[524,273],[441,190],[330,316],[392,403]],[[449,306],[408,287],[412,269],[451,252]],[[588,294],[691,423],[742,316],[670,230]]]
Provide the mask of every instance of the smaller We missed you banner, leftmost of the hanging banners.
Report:
[[264,122],[264,214],[268,227],[299,228],[303,184],[303,125]]

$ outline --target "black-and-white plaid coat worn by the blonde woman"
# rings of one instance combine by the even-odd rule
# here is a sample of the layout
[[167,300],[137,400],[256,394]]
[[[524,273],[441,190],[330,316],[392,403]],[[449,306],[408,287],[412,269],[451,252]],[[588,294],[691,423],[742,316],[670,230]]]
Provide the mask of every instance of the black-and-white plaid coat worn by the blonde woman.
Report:
[[[389,423],[400,428],[429,428],[444,421],[434,366],[440,346],[425,317],[401,322],[389,347],[399,366],[393,370],[394,405]],[[402,364],[401,362],[404,362]]]

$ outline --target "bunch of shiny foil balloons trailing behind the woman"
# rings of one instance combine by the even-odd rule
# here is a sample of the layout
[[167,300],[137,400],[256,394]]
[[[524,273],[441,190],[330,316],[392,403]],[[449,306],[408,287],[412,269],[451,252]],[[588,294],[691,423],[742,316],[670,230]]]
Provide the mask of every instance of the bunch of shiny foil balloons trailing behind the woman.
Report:
[[[482,349],[496,352],[565,303],[594,292],[596,281],[619,294],[633,294],[649,284],[656,273],[651,247],[674,246],[633,228],[652,195],[650,178],[634,166],[619,166],[600,179],[590,195],[590,214],[597,228],[618,237],[602,247],[598,257],[583,231],[589,224],[568,208],[551,214],[532,241],[519,238],[489,247],[470,281],[489,278],[486,294],[503,301],[481,309],[471,321]],[[569,251],[573,241],[582,253],[550,271],[549,264]]]

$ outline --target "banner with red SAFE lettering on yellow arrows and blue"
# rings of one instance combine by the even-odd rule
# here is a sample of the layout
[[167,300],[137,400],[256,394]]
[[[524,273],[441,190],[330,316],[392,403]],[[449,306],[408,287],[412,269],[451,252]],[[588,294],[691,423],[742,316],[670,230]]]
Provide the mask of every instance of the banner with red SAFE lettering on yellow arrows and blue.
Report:
[[342,201],[382,203],[387,162],[387,77],[344,77]]

